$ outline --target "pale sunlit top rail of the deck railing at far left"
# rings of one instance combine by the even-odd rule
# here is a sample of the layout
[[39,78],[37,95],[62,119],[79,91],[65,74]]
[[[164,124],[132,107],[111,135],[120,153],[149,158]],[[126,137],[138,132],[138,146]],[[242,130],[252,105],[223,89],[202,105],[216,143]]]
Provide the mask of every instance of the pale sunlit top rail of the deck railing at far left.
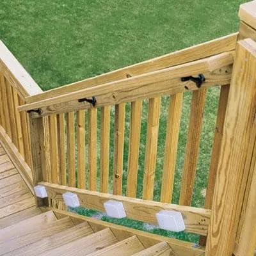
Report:
[[0,40],[0,63],[1,71],[8,78],[10,83],[23,97],[42,93],[40,87],[29,76],[28,72],[20,65],[19,61],[13,56],[12,52]]

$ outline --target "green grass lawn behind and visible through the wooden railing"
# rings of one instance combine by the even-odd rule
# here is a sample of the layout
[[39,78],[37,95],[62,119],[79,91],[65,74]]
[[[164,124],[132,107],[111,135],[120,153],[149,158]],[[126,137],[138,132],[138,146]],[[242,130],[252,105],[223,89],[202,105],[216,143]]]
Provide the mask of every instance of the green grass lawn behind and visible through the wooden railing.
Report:
[[[168,52],[183,49],[237,31],[239,4],[244,0],[216,1],[117,1],[1,0],[0,39],[8,46],[43,90],[96,76]],[[207,92],[200,157],[192,205],[204,205],[203,189],[211,155],[212,136],[220,88]],[[191,93],[184,94],[179,150],[172,202],[179,202]],[[168,97],[163,97],[159,128],[154,200],[159,200]],[[112,112],[113,115],[113,112]],[[124,193],[129,143],[129,104],[125,120]],[[100,124],[100,120],[99,120]],[[113,123],[111,124],[113,134]],[[143,102],[138,197],[141,197],[144,148],[147,134],[147,102]],[[113,136],[110,158],[113,159]],[[99,147],[98,147],[99,148]],[[112,162],[112,161],[111,161]],[[110,175],[113,165],[110,163]],[[95,214],[85,209],[80,213]],[[107,221],[111,220],[104,217]],[[117,221],[145,229],[140,222]],[[147,228],[146,228],[147,229]],[[174,236],[163,230],[159,234]],[[175,234],[189,241],[197,236]]]

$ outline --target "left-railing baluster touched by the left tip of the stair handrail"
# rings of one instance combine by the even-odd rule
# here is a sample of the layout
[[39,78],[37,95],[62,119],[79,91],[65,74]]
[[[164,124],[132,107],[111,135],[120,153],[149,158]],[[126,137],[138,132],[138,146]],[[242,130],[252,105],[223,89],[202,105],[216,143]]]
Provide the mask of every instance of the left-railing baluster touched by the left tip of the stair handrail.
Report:
[[24,157],[25,153],[24,153],[24,145],[23,145],[21,118],[20,118],[21,113],[19,113],[17,109],[20,106],[19,95],[14,89],[13,89],[13,104],[15,109],[15,124],[17,127],[17,138],[18,138],[18,146],[19,146],[18,148],[19,148],[20,155]]

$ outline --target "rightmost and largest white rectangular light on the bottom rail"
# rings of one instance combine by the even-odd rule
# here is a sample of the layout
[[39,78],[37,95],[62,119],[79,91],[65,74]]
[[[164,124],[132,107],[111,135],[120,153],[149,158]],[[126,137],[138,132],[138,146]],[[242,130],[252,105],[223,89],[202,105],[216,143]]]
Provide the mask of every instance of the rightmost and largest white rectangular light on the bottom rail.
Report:
[[157,212],[156,218],[160,228],[180,232],[185,230],[182,214],[177,211],[162,210]]

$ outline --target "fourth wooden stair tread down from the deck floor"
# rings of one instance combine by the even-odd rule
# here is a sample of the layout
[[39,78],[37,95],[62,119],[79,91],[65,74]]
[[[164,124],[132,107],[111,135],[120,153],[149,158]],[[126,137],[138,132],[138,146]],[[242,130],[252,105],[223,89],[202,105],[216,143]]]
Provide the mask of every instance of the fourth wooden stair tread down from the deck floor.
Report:
[[90,253],[88,256],[131,256],[134,253],[144,250],[144,246],[136,236],[129,237],[118,243],[112,244],[107,248],[99,250],[98,252]]

